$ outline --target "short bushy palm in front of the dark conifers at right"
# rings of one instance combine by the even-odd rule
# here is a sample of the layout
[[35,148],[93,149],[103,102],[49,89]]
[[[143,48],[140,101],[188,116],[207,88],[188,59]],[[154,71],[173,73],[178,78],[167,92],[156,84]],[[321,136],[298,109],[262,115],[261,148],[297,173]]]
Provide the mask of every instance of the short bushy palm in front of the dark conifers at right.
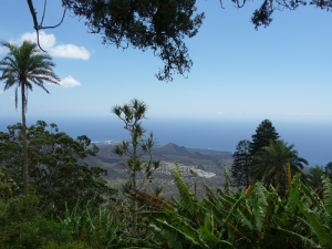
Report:
[[262,180],[263,185],[272,184],[277,187],[279,184],[287,183],[287,164],[290,163],[291,174],[301,172],[303,165],[308,165],[304,158],[298,156],[298,151],[293,149],[294,145],[288,145],[284,141],[270,141],[270,145],[262,152],[255,155],[257,159],[252,165],[250,176],[252,179]]

